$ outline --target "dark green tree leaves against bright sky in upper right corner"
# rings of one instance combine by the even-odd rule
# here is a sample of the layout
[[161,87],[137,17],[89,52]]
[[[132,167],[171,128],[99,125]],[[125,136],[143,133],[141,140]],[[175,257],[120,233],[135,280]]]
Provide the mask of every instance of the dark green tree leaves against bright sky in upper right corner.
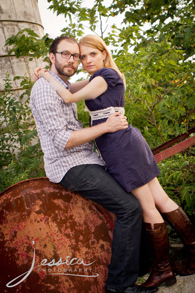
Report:
[[125,24],[139,27],[145,22],[151,24],[146,31],[146,43],[151,35],[156,40],[166,37],[173,47],[185,51],[187,58],[195,54],[194,0],[114,0],[111,7],[117,9],[115,14],[118,10],[120,13],[126,11]]

